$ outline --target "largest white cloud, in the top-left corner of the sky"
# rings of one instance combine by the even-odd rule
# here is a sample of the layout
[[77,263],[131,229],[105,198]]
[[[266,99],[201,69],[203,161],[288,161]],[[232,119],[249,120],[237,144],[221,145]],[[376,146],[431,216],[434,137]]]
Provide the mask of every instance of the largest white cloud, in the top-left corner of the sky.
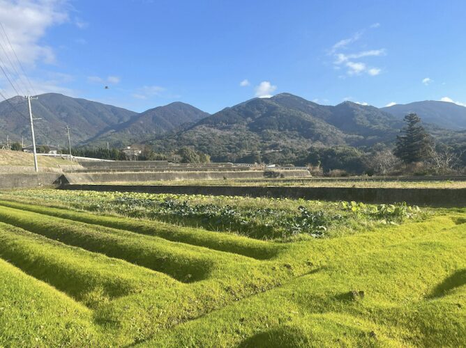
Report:
[[[54,63],[53,49],[40,39],[51,26],[67,22],[66,0],[0,0],[0,22],[18,59],[33,66],[37,61]],[[6,45],[8,54],[13,54]]]

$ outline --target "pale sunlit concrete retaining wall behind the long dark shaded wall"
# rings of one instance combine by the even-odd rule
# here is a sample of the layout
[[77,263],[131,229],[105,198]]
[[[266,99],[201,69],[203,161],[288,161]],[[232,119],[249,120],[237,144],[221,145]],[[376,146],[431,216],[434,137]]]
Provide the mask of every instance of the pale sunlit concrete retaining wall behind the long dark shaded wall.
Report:
[[151,173],[66,173],[70,184],[98,184],[105,182],[154,182],[171,180],[256,179],[271,176],[308,177],[308,171],[202,171]]

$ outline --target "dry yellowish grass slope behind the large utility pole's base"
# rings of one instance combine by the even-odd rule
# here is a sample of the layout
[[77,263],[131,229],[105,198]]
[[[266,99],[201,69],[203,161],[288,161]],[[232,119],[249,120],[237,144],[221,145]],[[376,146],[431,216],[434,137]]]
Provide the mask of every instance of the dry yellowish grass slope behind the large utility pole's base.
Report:
[[[59,167],[78,165],[76,162],[68,161],[61,158],[47,156],[38,156],[38,165],[43,167]],[[1,166],[34,166],[34,157],[32,154],[22,151],[0,150],[0,167]]]

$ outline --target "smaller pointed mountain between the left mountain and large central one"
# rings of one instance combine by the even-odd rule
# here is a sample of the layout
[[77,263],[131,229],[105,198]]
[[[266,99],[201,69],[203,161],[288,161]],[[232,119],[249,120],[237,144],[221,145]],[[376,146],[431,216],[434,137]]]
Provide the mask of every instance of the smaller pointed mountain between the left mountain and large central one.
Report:
[[138,113],[130,120],[115,125],[104,134],[90,139],[89,143],[105,143],[124,145],[151,139],[154,136],[172,132],[183,125],[192,125],[209,113],[185,104],[174,102],[165,106]]

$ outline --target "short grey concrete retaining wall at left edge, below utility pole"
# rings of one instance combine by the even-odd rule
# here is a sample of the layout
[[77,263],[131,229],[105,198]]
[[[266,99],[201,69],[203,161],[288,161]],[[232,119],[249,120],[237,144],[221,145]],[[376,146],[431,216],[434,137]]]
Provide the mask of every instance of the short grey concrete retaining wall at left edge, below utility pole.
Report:
[[61,173],[0,173],[0,189],[57,186]]

